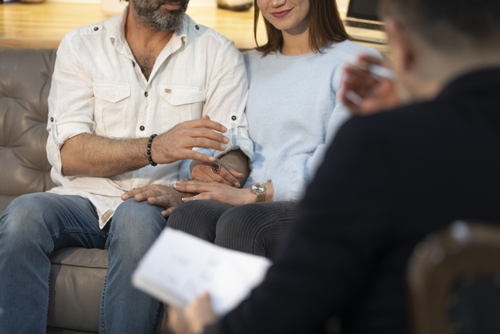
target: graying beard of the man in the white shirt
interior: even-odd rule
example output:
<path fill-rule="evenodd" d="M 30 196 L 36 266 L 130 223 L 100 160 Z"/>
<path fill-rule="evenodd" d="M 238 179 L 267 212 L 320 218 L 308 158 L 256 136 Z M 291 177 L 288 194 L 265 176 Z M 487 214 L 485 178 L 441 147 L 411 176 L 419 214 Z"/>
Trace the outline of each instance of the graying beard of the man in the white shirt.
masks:
<path fill-rule="evenodd" d="M 166 0 L 132 0 L 135 14 L 139 21 L 147 28 L 155 30 L 175 30 L 182 26 L 182 19 L 187 9 L 189 0 L 181 0 L 181 6 L 177 10 L 161 8 Z"/>

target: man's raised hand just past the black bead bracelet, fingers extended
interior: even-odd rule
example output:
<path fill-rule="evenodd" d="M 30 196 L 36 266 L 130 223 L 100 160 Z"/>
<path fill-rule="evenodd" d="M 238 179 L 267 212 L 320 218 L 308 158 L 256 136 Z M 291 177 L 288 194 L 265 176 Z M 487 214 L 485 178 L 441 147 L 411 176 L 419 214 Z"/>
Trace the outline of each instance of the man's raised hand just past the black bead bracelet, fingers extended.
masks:
<path fill-rule="evenodd" d="M 216 132 L 218 131 L 218 132 Z M 229 139 L 222 135 L 227 128 L 213 122 L 208 116 L 175 125 L 170 131 L 156 136 L 151 145 L 151 158 L 155 163 L 173 163 L 182 159 L 213 163 L 215 158 L 193 151 L 193 147 L 224 151 Z M 222 133 L 220 133 L 222 132 Z"/>

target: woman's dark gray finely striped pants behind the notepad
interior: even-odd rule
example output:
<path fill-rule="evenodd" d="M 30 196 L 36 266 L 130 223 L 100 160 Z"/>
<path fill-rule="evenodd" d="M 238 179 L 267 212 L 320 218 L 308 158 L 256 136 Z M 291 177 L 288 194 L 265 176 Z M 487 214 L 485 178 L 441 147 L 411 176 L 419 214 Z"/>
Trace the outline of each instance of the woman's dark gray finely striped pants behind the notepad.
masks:
<path fill-rule="evenodd" d="M 273 257 L 297 213 L 296 202 L 232 207 L 217 201 L 198 200 L 177 207 L 166 225 L 225 248 Z"/>

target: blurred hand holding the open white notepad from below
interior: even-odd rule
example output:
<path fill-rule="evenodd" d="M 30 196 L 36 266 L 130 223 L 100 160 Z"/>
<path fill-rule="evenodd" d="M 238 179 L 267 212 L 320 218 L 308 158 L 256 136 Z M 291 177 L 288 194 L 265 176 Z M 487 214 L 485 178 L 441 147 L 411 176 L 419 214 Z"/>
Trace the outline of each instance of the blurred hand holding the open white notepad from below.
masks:
<path fill-rule="evenodd" d="M 203 293 L 198 299 L 184 308 L 167 308 L 169 328 L 177 334 L 202 333 L 204 326 L 213 324 L 220 317 L 212 308 L 209 293 Z"/>

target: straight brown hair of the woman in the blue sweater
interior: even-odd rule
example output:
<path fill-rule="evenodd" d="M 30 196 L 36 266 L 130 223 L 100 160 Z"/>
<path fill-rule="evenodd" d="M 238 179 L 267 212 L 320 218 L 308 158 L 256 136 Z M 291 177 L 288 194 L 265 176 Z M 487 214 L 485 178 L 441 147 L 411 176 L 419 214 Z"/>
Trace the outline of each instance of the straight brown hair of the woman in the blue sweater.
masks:
<path fill-rule="evenodd" d="M 281 30 L 275 28 L 263 17 L 267 43 L 260 46 L 257 42 L 257 24 L 260 10 L 257 6 L 257 0 L 254 0 L 253 7 L 255 15 L 253 16 L 253 37 L 256 40 L 257 50 L 269 55 L 280 51 L 283 47 L 283 35 Z M 345 41 L 349 35 L 345 32 L 344 25 L 338 14 L 337 3 L 335 0 L 309 0 L 309 46 L 313 51 L 319 51 L 320 48 L 327 46 L 330 41 Z"/>

